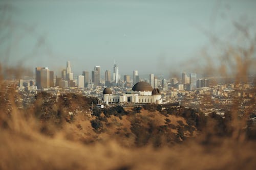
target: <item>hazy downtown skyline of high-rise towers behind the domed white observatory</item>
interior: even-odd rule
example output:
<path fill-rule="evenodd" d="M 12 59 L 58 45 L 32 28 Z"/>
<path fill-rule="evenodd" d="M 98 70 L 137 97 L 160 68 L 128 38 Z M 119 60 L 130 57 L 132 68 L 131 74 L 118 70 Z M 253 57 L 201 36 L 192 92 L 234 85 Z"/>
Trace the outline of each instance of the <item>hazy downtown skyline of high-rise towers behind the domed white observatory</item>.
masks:
<path fill-rule="evenodd" d="M 47 89 L 51 87 L 58 87 L 61 89 L 67 88 L 95 88 L 95 87 L 123 87 L 132 88 L 136 83 L 144 81 L 151 85 L 152 88 L 161 89 L 162 91 L 168 91 L 172 88 L 176 88 L 179 91 L 193 91 L 198 88 L 209 87 L 208 79 L 197 79 L 196 73 L 182 72 L 181 78 L 160 79 L 154 74 L 149 74 L 148 78 L 140 78 L 139 71 L 134 70 L 133 75 L 123 75 L 123 80 L 119 74 L 119 67 L 114 63 L 113 74 L 111 70 L 105 70 L 104 79 L 101 79 L 101 67 L 95 66 L 91 74 L 88 70 L 83 70 L 81 75 L 78 75 L 74 79 L 74 74 L 71 69 L 71 62 L 67 61 L 66 69 L 61 70 L 61 77 L 56 76 L 54 79 L 54 72 L 49 70 L 48 67 L 36 67 L 35 68 L 35 84 L 28 86 L 19 83 L 20 88 L 26 87 L 29 89 Z M 22 80 L 21 80 L 22 82 Z M 36 86 L 36 87 L 34 87 Z"/>

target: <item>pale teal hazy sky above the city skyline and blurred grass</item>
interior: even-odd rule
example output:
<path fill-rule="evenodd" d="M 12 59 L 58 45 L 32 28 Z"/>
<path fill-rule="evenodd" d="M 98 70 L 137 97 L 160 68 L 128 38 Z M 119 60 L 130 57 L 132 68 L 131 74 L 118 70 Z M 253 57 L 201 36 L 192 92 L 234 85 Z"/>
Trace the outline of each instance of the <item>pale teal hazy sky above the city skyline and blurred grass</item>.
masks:
<path fill-rule="evenodd" d="M 0 1 L 6 4 L 0 61 L 57 75 L 67 61 L 75 74 L 96 65 L 113 72 L 114 62 L 122 75 L 190 71 L 211 46 L 209 35 L 225 37 L 233 21 L 256 16 L 256 1 Z"/>

